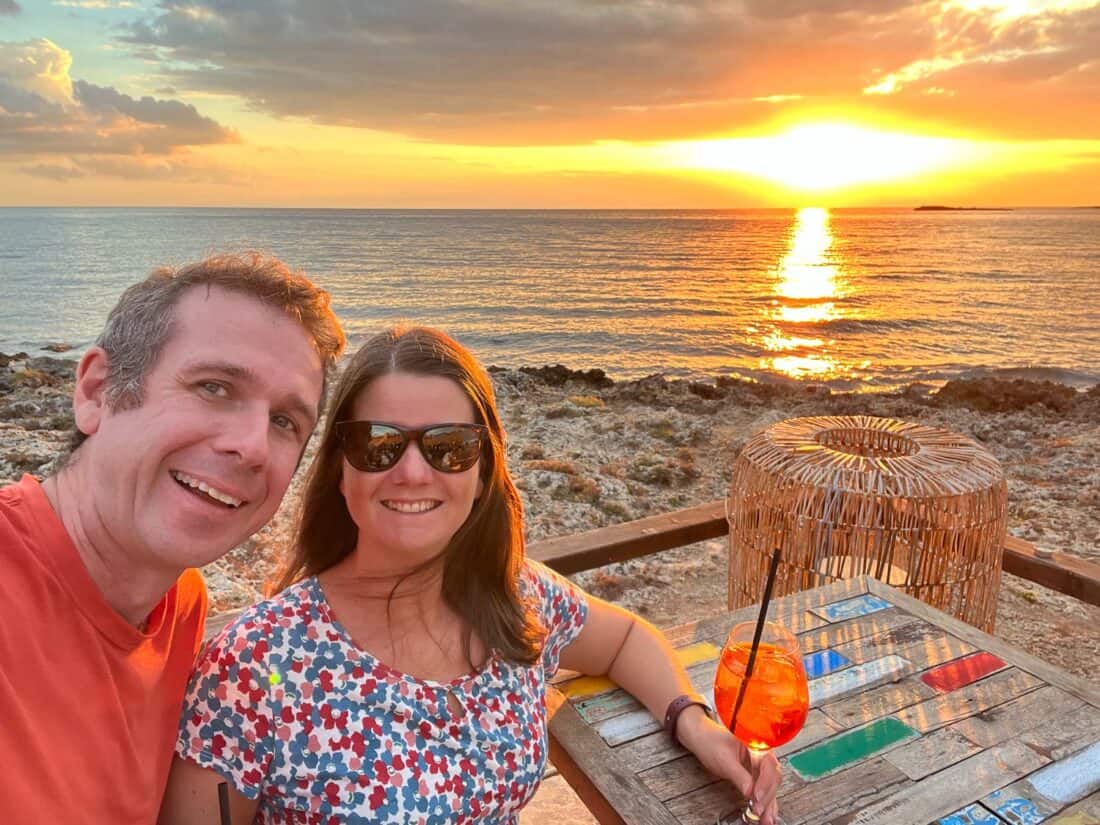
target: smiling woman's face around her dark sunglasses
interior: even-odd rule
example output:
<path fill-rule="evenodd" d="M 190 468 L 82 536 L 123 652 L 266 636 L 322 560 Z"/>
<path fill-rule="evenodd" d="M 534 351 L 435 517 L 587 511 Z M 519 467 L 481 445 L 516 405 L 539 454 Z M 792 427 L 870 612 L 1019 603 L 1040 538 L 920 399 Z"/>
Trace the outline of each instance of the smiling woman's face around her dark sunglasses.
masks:
<path fill-rule="evenodd" d="M 351 418 L 420 429 L 475 424 L 474 407 L 450 378 L 389 373 L 355 398 Z M 400 571 L 439 554 L 481 495 L 481 462 L 460 473 L 433 469 L 416 442 L 389 470 L 366 473 L 344 460 L 340 492 L 359 526 L 356 552 L 375 569 Z"/>

